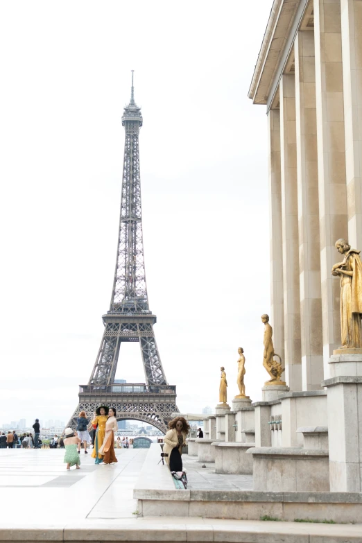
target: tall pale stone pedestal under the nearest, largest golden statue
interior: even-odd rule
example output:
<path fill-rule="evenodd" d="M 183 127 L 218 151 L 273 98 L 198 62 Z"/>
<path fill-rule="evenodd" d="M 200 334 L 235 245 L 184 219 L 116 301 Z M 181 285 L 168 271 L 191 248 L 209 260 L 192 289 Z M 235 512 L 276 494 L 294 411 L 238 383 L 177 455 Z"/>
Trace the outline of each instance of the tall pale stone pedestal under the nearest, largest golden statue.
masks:
<path fill-rule="evenodd" d="M 327 387 L 331 492 L 362 492 L 362 354 L 333 354 Z M 341 350 L 335 351 L 335 353 Z"/>

